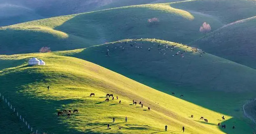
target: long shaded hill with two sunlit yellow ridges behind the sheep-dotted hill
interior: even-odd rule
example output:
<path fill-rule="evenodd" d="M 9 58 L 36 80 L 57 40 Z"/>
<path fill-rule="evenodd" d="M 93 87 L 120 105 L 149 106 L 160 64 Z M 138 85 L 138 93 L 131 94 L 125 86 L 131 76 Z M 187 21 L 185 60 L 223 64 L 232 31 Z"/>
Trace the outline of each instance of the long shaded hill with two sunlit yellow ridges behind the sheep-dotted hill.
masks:
<path fill-rule="evenodd" d="M 150 24 L 149 18 L 159 18 Z M 125 38 L 157 37 L 189 43 L 204 34 L 202 22 L 212 29 L 222 24 L 215 18 L 175 9 L 170 4 L 145 4 L 76 15 L 36 20 L 0 28 L 0 54 L 85 48 Z"/>

